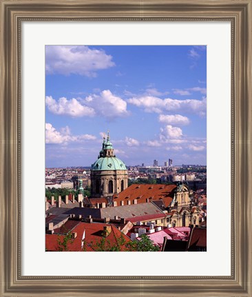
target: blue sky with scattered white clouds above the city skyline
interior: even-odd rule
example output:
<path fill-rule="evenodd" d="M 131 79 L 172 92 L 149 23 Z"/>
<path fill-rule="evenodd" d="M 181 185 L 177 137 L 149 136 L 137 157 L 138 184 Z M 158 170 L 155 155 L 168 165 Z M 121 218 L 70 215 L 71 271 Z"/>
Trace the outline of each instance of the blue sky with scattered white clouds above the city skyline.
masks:
<path fill-rule="evenodd" d="M 47 45 L 45 165 L 207 164 L 207 47 Z"/>

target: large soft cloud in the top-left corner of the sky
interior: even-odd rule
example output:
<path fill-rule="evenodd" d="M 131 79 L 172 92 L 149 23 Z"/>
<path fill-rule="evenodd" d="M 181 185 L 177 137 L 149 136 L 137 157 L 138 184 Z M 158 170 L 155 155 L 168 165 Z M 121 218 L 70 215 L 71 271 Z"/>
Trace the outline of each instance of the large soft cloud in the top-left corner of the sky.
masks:
<path fill-rule="evenodd" d="M 45 71 L 47 74 L 79 74 L 94 77 L 97 70 L 113 67 L 112 56 L 104 50 L 85 45 L 47 45 Z"/>

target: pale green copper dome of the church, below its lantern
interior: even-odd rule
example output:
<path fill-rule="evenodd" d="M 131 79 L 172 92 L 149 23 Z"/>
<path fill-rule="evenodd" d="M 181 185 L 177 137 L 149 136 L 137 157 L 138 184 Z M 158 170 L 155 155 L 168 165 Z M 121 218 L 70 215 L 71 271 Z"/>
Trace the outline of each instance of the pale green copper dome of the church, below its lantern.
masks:
<path fill-rule="evenodd" d="M 115 156 L 98 158 L 92 164 L 92 170 L 127 170 L 125 163 Z"/>

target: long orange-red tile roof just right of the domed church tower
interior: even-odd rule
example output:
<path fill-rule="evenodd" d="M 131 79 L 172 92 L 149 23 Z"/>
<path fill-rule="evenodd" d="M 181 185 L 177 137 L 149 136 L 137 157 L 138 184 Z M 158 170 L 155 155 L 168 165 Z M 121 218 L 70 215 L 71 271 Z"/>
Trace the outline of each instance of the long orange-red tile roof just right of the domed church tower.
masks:
<path fill-rule="evenodd" d="M 123 192 L 114 194 L 114 201 L 127 201 L 130 199 L 133 201 L 137 199 L 137 203 L 146 203 L 147 198 L 149 201 L 162 199 L 165 203 L 165 207 L 168 207 L 174 197 L 174 190 L 176 185 L 158 185 L 158 184 L 134 184 L 130 185 Z M 127 203 L 127 202 L 126 202 Z"/>

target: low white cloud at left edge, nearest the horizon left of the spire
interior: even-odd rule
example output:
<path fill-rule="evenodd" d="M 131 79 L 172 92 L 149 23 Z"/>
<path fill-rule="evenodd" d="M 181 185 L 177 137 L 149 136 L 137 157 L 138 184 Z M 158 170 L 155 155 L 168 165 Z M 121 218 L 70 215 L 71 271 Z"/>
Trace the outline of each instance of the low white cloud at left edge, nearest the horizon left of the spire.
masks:
<path fill-rule="evenodd" d="M 52 124 L 45 123 L 45 143 L 68 143 L 81 142 L 96 139 L 90 134 L 72 135 L 69 127 L 63 127 L 61 131 L 56 130 Z"/>

